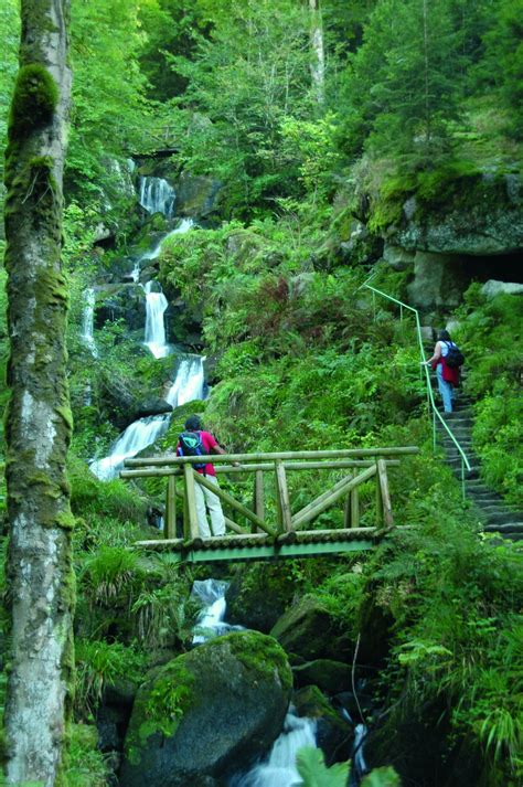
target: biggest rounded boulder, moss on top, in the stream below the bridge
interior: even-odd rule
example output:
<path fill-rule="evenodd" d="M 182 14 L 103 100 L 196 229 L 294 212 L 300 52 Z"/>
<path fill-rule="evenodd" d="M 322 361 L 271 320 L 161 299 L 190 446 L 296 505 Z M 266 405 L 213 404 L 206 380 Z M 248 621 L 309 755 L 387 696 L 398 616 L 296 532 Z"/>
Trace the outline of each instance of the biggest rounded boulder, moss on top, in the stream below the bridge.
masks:
<path fill-rule="evenodd" d="M 247 767 L 279 735 L 291 683 L 285 652 L 255 631 L 173 659 L 138 691 L 121 787 L 212 784 Z"/>

